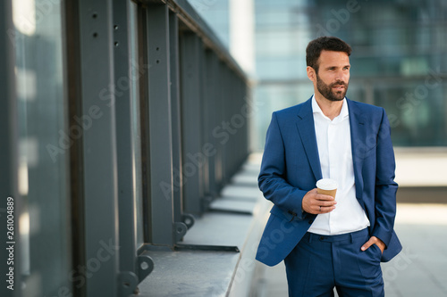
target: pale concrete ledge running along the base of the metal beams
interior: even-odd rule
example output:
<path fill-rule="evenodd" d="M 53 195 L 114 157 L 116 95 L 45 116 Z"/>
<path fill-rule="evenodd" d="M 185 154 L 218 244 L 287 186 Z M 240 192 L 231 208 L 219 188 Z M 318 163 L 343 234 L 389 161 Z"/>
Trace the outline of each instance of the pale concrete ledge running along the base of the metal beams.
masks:
<path fill-rule="evenodd" d="M 154 270 L 135 297 L 249 295 L 257 243 L 272 206 L 257 189 L 258 166 L 248 162 L 212 204 L 214 211 L 196 219 L 181 244 L 200 249 L 145 252 L 154 260 Z M 240 252 L 204 250 L 207 246 L 237 247 Z"/>

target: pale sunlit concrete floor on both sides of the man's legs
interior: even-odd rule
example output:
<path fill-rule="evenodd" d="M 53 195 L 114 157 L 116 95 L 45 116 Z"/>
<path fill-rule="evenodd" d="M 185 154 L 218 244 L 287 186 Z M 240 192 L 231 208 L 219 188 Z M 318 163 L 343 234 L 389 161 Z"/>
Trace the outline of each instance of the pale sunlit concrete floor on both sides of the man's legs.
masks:
<path fill-rule="evenodd" d="M 447 205 L 398 205 L 402 252 L 382 265 L 387 297 L 447 296 Z M 266 267 L 258 297 L 286 297 L 283 263 Z"/>

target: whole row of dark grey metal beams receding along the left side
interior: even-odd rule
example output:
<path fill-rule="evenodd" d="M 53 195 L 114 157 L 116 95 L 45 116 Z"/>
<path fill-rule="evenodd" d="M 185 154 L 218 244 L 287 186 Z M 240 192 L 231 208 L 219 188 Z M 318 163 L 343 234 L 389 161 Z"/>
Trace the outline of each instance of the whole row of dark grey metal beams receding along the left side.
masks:
<path fill-rule="evenodd" d="M 63 202 L 67 207 L 58 216 L 65 218 L 68 245 L 60 255 L 40 248 L 38 236 L 52 228 L 47 222 L 55 210 L 48 209 L 40 225 L 30 216 L 30 226 L 39 227 L 37 235 L 27 237 L 29 249 L 16 245 L 30 269 L 14 264 L 15 290 L 1 290 L 13 296 L 33 290 L 46 296 L 128 296 L 154 268 L 148 251 L 173 250 L 249 155 L 248 80 L 184 0 L 67 2 L 48 6 L 47 15 L 42 14 L 62 20 L 58 42 L 63 54 L 54 59 L 63 65 L 63 95 L 54 100 L 66 108 L 49 118 L 51 111 L 27 118 L 14 107 L 18 97 L 12 56 L 17 48 L 7 34 L 15 30 L 13 21 L 6 18 L 13 14 L 11 4 L 0 4 L 0 74 L 6 94 L 0 101 L 0 129 L 7 140 L 0 154 L 0 208 L 11 196 L 20 218 L 30 205 L 44 210 L 48 203 Z M 36 22 L 36 32 L 44 22 Z M 22 45 L 40 46 L 37 37 L 27 42 Z M 33 69 L 38 82 L 45 77 L 39 70 Z M 37 95 L 48 89 L 42 86 Z M 18 123 L 55 125 L 53 118 L 63 119 L 59 134 L 70 143 L 63 148 L 46 143 L 36 132 L 38 154 L 45 157 L 36 172 L 45 180 L 51 164 L 68 186 L 42 200 L 46 185 L 39 182 L 25 199 L 15 178 Z M 20 207 L 21 201 L 26 207 Z M 21 221 L 14 222 L 19 230 Z M 35 257 L 49 260 L 33 261 Z M 40 284 L 38 276 L 51 274 L 54 266 L 63 276 Z"/>

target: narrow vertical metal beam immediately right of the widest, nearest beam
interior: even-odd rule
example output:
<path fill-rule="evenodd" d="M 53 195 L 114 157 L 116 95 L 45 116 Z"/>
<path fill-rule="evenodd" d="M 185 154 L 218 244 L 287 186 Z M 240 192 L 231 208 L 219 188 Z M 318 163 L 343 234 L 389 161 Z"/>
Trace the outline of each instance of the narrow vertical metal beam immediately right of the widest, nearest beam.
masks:
<path fill-rule="evenodd" d="M 135 220 L 135 170 L 131 119 L 131 84 L 139 73 L 132 70 L 128 21 L 128 1 L 114 0 L 114 86 L 116 153 L 118 174 L 118 213 L 120 240 L 120 295 L 133 293 L 139 283 Z"/>

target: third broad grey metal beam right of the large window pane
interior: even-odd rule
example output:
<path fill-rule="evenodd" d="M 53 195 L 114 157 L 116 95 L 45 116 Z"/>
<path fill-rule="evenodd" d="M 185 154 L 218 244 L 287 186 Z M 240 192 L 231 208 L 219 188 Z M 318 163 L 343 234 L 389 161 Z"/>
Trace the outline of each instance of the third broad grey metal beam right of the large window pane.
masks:
<path fill-rule="evenodd" d="M 184 210 L 199 215 L 203 212 L 199 58 L 202 46 L 199 37 L 188 31 L 181 35 L 180 45 Z"/>

